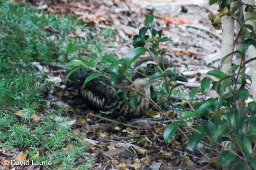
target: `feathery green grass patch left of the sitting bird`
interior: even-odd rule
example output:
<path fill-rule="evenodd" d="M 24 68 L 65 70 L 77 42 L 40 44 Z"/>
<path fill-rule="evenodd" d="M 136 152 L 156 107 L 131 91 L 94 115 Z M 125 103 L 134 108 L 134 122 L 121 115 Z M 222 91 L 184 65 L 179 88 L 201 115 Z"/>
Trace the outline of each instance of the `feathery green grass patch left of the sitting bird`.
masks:
<path fill-rule="evenodd" d="M 51 84 L 46 81 L 47 73 L 31 63 L 95 61 L 108 54 L 102 44 L 112 40 L 113 30 L 92 34 L 90 27 L 72 16 L 53 16 L 7 0 L 0 0 L 0 18 L 0 151 L 18 147 L 28 153 L 29 160 L 52 161 L 46 169 L 90 169 L 94 160 L 78 161 L 86 152 L 85 134 L 73 132 L 73 126 L 65 124 L 69 118 L 54 119 L 65 110 L 42 111 L 44 91 Z M 68 36 L 77 29 L 87 36 Z M 43 112 L 41 119 L 35 122 L 31 116 L 39 111 Z"/>

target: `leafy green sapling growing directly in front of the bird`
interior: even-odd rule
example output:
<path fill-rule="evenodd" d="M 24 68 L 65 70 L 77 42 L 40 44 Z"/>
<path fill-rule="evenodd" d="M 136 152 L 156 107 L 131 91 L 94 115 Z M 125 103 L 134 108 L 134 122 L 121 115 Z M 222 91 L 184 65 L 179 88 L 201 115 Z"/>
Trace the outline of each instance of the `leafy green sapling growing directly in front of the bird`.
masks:
<path fill-rule="evenodd" d="M 118 59 L 118 57 L 114 55 L 99 56 L 99 60 L 101 60 L 104 65 L 101 63 L 95 64 L 91 61 L 82 62 L 81 60 L 72 60 L 67 64 L 68 67 L 73 67 L 73 69 L 66 76 L 66 80 L 68 80 L 69 76 L 71 76 L 74 71 L 84 68 L 94 71 L 95 74 L 88 76 L 85 79 L 83 85 L 86 85 L 89 81 L 98 76 L 105 76 L 112 82 L 113 85 L 119 87 L 120 85 L 124 87 L 121 82 L 129 82 L 131 84 L 129 87 L 126 86 L 120 90 L 123 92 L 123 98 L 126 104 L 131 108 L 137 108 L 137 95 L 147 98 L 146 94 L 140 91 L 132 80 L 132 75 L 134 73 L 139 73 L 148 77 L 150 81 L 155 80 L 158 82 L 159 91 L 153 94 L 151 97 L 157 98 L 157 101 L 161 103 L 161 106 L 156 104 L 151 98 L 148 100 L 156 109 L 166 109 L 166 107 L 171 103 L 171 93 L 174 88 L 183 85 L 175 84 L 171 86 L 172 82 L 176 80 L 187 80 L 183 76 L 178 76 L 173 70 L 168 68 L 169 63 L 164 58 L 166 51 L 160 49 L 159 43 L 170 41 L 171 39 L 162 36 L 163 30 L 156 30 L 152 27 L 153 20 L 153 15 L 146 16 L 145 22 L 148 26 L 139 29 L 139 34 L 133 37 L 134 49 L 130 51 L 123 59 Z M 149 53 L 149 55 L 154 59 L 155 63 L 157 63 L 156 67 L 149 65 L 144 70 L 135 70 L 133 64 L 141 55 L 145 54 L 146 52 Z M 105 69 L 110 69 L 111 71 L 106 73 L 103 71 Z M 147 76 L 147 74 L 151 71 L 153 74 Z M 136 92 L 136 95 L 134 95 L 134 92 Z M 163 96 L 166 96 L 166 98 L 164 99 Z"/>

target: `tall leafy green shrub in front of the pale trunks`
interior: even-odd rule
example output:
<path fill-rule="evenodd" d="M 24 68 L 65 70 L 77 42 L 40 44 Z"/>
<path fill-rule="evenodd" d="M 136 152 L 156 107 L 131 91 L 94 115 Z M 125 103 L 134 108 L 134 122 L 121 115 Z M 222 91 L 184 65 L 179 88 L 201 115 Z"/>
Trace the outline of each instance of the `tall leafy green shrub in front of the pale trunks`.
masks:
<path fill-rule="evenodd" d="M 254 26 L 246 24 L 243 17 L 239 18 L 243 7 L 246 11 L 253 12 L 255 6 L 237 0 L 210 0 L 210 5 L 215 2 L 219 2 L 219 14 L 215 16 L 210 14 L 209 19 L 216 29 L 220 29 L 220 17 L 223 16 L 232 17 L 231 19 L 235 19 L 239 23 L 239 33 L 235 39 L 238 50 L 228 52 L 229 54 L 221 59 L 221 65 L 229 57 L 231 66 L 232 58 L 230 59 L 230 56 L 233 54 L 241 56 L 241 62 L 232 66 L 227 73 L 220 69 L 209 71 L 208 75 L 213 76 L 214 79 L 204 77 L 201 81 L 201 88 L 190 92 L 190 102 L 193 102 L 193 97 L 198 92 L 207 95 L 210 88 L 218 94 L 218 97 L 194 102 L 191 110 L 182 112 L 179 120 L 166 127 L 164 139 L 168 143 L 179 127 L 186 126 L 193 131 L 188 140 L 188 147 L 192 151 L 198 148 L 201 141 L 210 141 L 219 157 L 219 165 L 227 166 L 231 170 L 256 169 L 256 102 L 249 102 L 247 106 L 242 107 L 240 103 L 250 96 L 246 81 L 248 76 L 241 70 L 247 63 L 256 59 L 254 57 L 245 60 L 249 46 L 256 47 L 256 30 Z M 255 17 L 247 18 L 247 20 L 253 19 L 255 20 Z M 231 29 L 229 32 L 234 31 L 234 27 L 231 28 L 233 30 Z M 229 39 L 231 38 L 229 37 Z M 238 39 L 241 44 L 236 43 Z M 203 123 L 193 128 L 186 123 L 186 119 L 190 118 L 203 119 Z"/>

